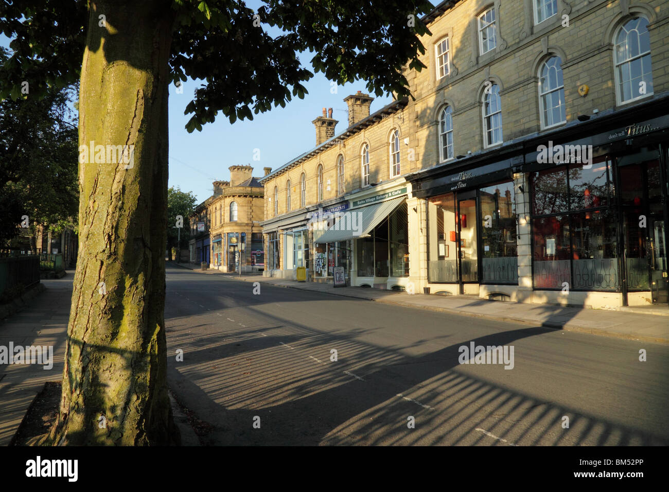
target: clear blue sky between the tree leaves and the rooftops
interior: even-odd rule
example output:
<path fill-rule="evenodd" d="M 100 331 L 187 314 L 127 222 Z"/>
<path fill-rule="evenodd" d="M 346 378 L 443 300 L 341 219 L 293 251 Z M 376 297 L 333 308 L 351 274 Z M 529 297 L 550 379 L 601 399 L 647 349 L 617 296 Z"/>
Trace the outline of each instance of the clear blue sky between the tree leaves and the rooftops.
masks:
<path fill-rule="evenodd" d="M 433 0 L 434 4 L 435 1 Z M 258 9 L 261 0 L 248 0 L 248 7 Z M 270 31 L 272 33 L 272 31 Z M 274 34 L 274 33 L 272 33 Z M 8 47 L 9 39 L 0 34 L 0 45 Z M 313 72 L 309 54 L 299 56 L 303 66 Z M 264 167 L 276 169 L 316 145 L 316 131 L 312 120 L 322 114 L 322 108 L 333 108 L 332 116 L 339 120 L 335 133 L 347 127 L 347 109 L 343 99 L 358 90 L 366 92 L 362 80 L 354 84 L 337 86 L 337 92 L 323 74 L 314 74 L 304 84 L 308 94 L 304 99 L 294 98 L 285 108 L 255 114 L 253 120 L 237 120 L 230 125 L 223 113 L 202 131 L 188 133 L 186 122 L 191 115 L 183 114 L 200 81 L 188 80 L 183 84 L 183 94 L 171 86 L 169 95 L 169 185 L 182 191 L 193 191 L 198 202 L 212 194 L 211 181 L 227 180 L 231 165 L 250 164 L 254 176 L 263 175 Z M 391 96 L 373 100 L 371 112 L 391 102 Z M 260 160 L 254 161 L 254 149 L 260 149 Z"/>

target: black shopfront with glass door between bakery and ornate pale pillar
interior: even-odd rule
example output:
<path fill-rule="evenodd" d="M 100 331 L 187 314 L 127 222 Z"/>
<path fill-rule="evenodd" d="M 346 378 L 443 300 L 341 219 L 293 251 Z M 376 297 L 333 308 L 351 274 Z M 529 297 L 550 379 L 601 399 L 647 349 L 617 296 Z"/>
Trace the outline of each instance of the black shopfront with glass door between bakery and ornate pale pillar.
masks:
<path fill-rule="evenodd" d="M 415 195 L 425 200 L 429 292 L 509 296 L 517 288 L 516 162 L 507 158 L 421 181 Z"/>

